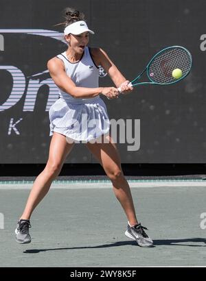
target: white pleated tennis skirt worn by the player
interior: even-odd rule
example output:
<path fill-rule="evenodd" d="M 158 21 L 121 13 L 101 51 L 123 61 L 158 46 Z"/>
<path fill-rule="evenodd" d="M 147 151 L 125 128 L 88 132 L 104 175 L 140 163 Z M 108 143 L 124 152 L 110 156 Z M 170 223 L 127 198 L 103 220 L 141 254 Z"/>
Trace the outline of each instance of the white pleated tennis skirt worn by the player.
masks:
<path fill-rule="evenodd" d="M 50 136 L 58 132 L 78 142 L 108 134 L 110 121 L 100 97 L 66 101 L 62 97 L 49 109 Z"/>

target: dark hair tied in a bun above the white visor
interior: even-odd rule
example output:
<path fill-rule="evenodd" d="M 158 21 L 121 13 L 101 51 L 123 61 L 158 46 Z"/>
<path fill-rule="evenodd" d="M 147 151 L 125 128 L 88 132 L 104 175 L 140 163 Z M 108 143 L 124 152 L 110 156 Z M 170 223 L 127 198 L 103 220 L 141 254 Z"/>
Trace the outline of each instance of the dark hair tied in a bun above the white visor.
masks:
<path fill-rule="evenodd" d="M 72 23 L 76 23 L 76 21 L 84 21 L 84 14 L 75 8 L 65 8 L 63 14 L 66 21 L 64 23 L 58 23 L 57 25 L 65 25 L 65 27 L 67 27 Z"/>

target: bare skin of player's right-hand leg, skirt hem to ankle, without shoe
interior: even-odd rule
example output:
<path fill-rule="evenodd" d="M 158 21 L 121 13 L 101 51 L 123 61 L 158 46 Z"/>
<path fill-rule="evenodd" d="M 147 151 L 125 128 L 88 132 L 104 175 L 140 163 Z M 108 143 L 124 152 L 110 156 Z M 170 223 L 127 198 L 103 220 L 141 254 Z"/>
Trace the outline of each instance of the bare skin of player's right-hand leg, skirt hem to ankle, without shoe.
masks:
<path fill-rule="evenodd" d="M 131 225 L 137 224 L 133 197 L 128 182 L 122 172 L 119 153 L 111 136 L 106 136 L 108 143 L 87 143 L 88 149 L 98 159 L 108 178 L 113 184 L 113 191 L 124 208 Z"/>

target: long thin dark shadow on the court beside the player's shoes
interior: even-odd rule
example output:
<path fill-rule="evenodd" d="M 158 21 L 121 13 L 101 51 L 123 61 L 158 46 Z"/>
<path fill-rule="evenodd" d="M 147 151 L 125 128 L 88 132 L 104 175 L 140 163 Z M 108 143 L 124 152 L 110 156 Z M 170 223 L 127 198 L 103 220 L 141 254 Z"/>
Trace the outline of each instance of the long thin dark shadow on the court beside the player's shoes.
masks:
<path fill-rule="evenodd" d="M 176 246 L 187 246 L 187 247 L 206 247 L 206 239 L 203 238 L 191 238 L 191 239 L 164 239 L 164 240 L 153 240 L 154 246 L 159 245 L 176 245 Z M 191 244 L 194 243 L 194 244 Z M 205 245 L 196 245 L 196 243 L 205 243 Z M 64 247 L 64 248 L 50 248 L 50 249 L 26 249 L 25 254 L 36 254 L 39 252 L 47 252 L 47 251 L 59 251 L 59 250 L 67 250 L 67 249 L 100 249 L 107 247 L 119 247 L 125 245 L 133 245 L 137 246 L 136 241 L 118 241 L 115 243 L 97 245 L 97 246 L 84 246 L 84 247 Z"/>

